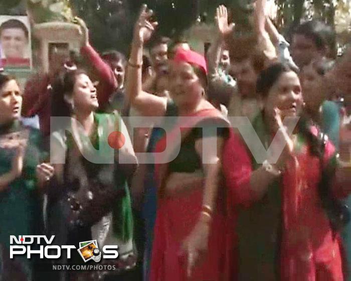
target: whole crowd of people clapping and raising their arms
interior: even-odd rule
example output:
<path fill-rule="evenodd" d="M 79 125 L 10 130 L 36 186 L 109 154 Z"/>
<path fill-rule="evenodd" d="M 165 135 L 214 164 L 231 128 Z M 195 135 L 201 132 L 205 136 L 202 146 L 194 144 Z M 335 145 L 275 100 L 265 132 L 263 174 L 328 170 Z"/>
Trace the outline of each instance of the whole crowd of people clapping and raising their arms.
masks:
<path fill-rule="evenodd" d="M 215 22 L 202 55 L 144 5 L 127 59 L 77 18 L 80 54 L 24 91 L 0 73 L 0 280 L 350 280 L 351 48 L 317 20 L 288 43 L 265 0 L 250 35 Z M 54 271 L 84 261 L 10 259 L 10 235 L 119 255 Z"/>

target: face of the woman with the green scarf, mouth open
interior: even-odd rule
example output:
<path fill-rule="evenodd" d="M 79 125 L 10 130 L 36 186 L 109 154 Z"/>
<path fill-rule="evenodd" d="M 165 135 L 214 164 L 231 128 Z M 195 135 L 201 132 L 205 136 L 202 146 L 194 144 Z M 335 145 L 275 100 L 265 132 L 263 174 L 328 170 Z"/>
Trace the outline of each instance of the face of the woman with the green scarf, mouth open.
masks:
<path fill-rule="evenodd" d="M 76 111 L 94 111 L 99 107 L 96 88 L 86 74 L 79 74 L 76 77 L 73 102 Z"/>

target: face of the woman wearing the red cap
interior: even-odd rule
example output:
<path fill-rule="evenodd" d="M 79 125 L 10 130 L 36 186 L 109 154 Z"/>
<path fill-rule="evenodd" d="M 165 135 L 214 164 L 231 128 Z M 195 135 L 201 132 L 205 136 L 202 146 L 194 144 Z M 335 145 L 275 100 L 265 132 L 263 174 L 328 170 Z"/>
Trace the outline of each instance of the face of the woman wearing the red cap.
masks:
<path fill-rule="evenodd" d="M 204 93 L 204 87 L 194 68 L 186 62 L 172 62 L 169 90 L 170 97 L 180 107 L 197 104 Z"/>

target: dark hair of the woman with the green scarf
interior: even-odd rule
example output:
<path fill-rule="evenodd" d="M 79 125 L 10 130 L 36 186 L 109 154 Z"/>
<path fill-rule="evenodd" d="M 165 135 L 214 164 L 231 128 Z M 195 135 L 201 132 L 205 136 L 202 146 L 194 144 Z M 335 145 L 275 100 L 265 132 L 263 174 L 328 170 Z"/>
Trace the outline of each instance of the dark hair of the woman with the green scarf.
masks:
<path fill-rule="evenodd" d="M 65 100 L 65 95 L 72 95 L 76 78 L 80 74 L 86 74 L 86 71 L 77 69 L 73 71 L 62 71 L 58 74 L 56 80 L 52 84 L 52 116 L 68 117 L 72 115 L 72 107 Z"/>

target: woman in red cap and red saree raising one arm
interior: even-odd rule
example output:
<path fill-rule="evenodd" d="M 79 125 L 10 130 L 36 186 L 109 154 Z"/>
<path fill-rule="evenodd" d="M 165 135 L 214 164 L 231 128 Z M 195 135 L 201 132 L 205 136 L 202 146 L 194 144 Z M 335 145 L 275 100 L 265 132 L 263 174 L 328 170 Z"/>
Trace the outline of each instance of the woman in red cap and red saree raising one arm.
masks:
<path fill-rule="evenodd" d="M 205 99 L 206 61 L 194 51 L 180 50 L 171 62 L 171 102 L 142 91 L 143 43 L 157 25 L 148 21 L 151 15 L 143 6 L 135 25 L 127 96 L 144 116 L 178 117 L 161 118 L 171 129 L 154 149 L 158 197 L 150 280 L 232 280 L 227 268 L 233 264 L 226 262 L 229 233 L 220 181 L 229 124 Z"/>

